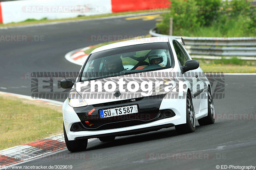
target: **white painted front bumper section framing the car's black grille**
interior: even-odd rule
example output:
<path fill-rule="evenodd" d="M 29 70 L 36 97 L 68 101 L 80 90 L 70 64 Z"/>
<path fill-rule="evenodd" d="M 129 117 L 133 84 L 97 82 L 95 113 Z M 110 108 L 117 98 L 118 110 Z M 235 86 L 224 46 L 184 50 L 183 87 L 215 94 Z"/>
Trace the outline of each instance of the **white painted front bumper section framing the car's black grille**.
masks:
<path fill-rule="evenodd" d="M 165 127 L 171 127 L 186 123 L 186 99 L 166 99 L 164 98 L 160 104 L 159 110 L 171 109 L 175 116 L 152 122 L 146 122 L 139 125 L 102 130 L 86 130 L 86 131 L 70 131 L 72 124 L 81 122 L 74 108 L 67 104 L 67 100 L 63 103 L 63 122 L 68 136 L 68 140 L 76 140 L 80 138 L 95 138 L 104 136 L 126 136 L 129 134 L 138 134 L 148 131 L 154 131 Z M 145 129 L 146 128 L 146 129 Z"/>

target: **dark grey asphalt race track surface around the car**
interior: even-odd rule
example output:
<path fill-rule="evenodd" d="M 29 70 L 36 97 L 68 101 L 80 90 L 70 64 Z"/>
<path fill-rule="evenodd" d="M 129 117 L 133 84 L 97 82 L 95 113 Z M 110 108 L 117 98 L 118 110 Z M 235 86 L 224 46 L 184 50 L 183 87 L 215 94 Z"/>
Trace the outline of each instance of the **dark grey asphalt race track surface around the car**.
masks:
<path fill-rule="evenodd" d="M 21 78 L 27 72 L 79 71 L 80 66 L 69 63 L 64 55 L 76 48 L 99 43 L 88 41 L 88 35 L 145 35 L 155 24 L 155 20 L 116 18 L 0 30 L 0 35 L 44 35 L 44 41 L 39 42 L 0 42 L 0 91 L 31 95 L 30 80 Z M 85 152 L 71 153 L 64 149 L 19 166 L 72 165 L 72 169 L 256 166 L 255 87 L 255 75 L 225 76 L 225 98 L 214 100 L 216 115 L 221 116 L 212 125 L 197 124 L 194 133 L 178 135 L 174 128 L 168 128 L 116 137 L 112 142 L 93 139 Z M 251 114 L 254 119 L 227 120 L 223 118 L 225 114 Z M 181 156 L 169 157 L 175 153 Z M 158 157 L 160 154 L 162 157 Z M 199 158 L 199 155 L 204 157 Z"/>

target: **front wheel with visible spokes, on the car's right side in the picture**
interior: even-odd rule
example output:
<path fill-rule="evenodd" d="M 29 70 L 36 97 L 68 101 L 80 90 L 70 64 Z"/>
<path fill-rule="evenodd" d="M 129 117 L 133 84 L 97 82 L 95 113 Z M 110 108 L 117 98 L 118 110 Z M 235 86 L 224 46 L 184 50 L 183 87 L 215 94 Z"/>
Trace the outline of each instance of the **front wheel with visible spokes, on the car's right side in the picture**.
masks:
<path fill-rule="evenodd" d="M 195 116 L 195 111 L 192 104 L 191 96 L 189 93 L 187 94 L 187 98 L 186 98 L 186 111 L 187 111 L 187 114 L 186 114 L 187 122 L 185 124 L 175 126 L 175 129 L 180 134 L 190 133 L 196 130 L 196 116 Z"/>

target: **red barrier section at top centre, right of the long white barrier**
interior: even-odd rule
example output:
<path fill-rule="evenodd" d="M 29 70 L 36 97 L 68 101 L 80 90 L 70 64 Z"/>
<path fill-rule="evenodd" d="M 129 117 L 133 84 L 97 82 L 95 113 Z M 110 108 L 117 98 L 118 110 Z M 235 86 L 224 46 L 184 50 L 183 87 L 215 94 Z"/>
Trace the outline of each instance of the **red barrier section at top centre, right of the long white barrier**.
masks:
<path fill-rule="evenodd" d="M 111 0 L 112 12 L 168 8 L 169 0 Z"/>

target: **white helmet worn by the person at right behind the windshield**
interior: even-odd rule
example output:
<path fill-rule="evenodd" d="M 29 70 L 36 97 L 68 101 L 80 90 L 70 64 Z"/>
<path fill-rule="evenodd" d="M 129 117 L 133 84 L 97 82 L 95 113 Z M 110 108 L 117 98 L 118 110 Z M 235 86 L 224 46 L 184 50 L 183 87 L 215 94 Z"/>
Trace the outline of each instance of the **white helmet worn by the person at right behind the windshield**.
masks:
<path fill-rule="evenodd" d="M 167 65 L 167 55 L 163 49 L 152 49 L 148 53 L 148 60 L 149 64 L 151 64 L 152 59 L 160 59 L 160 62 L 158 64 L 162 64 L 164 66 Z"/>

